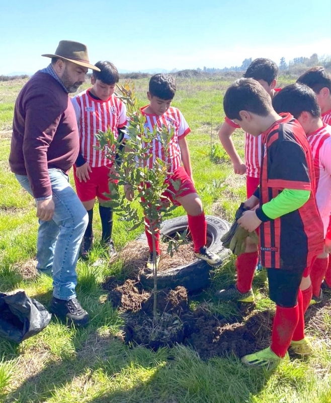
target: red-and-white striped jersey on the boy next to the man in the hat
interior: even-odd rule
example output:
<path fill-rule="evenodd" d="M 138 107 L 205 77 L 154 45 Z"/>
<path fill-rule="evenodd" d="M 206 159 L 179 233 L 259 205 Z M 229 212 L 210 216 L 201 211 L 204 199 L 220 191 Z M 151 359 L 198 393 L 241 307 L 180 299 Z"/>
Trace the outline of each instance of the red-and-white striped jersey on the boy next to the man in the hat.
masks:
<path fill-rule="evenodd" d="M 91 167 L 110 165 L 112 160 L 106 157 L 110 149 L 96 150 L 100 144 L 95 136 L 98 130 L 112 130 L 118 137 L 118 128 L 127 123 L 124 103 L 112 95 L 107 101 L 95 99 L 90 89 L 81 92 L 71 99 L 76 113 L 79 129 L 80 154 Z"/>

